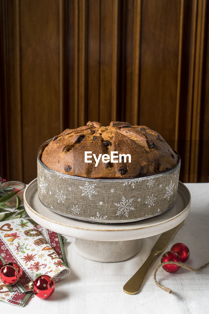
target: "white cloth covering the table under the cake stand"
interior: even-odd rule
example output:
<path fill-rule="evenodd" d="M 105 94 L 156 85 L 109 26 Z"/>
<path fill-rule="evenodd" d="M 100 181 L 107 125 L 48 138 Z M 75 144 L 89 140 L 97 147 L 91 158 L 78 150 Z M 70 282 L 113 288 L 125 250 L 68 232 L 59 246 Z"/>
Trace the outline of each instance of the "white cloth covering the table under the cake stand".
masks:
<path fill-rule="evenodd" d="M 191 192 L 191 211 L 184 225 L 174 236 L 167 251 L 176 242 L 190 249 L 186 262 L 193 268 L 209 262 L 209 183 L 185 184 Z M 0 301 L 1 313 L 207 313 L 209 308 L 209 267 L 192 273 L 180 268 L 166 273 L 162 268 L 157 280 L 173 291 L 169 294 L 156 286 L 153 273 L 160 257 L 150 268 L 140 292 L 127 295 L 123 285 L 148 257 L 159 236 L 142 239 L 140 252 L 120 263 L 97 263 L 81 257 L 74 248 L 74 239 L 65 244 L 71 273 L 56 283 L 54 294 L 46 300 L 30 299 L 23 308 Z"/>

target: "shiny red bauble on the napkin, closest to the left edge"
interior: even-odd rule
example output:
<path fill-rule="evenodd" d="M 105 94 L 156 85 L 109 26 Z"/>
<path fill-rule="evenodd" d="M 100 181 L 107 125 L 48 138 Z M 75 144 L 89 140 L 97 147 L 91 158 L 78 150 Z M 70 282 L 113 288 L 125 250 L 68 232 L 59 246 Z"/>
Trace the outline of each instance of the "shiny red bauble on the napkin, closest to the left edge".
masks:
<path fill-rule="evenodd" d="M 17 263 L 7 263 L 0 269 L 0 278 L 3 284 L 16 284 L 21 276 L 22 268 Z"/>

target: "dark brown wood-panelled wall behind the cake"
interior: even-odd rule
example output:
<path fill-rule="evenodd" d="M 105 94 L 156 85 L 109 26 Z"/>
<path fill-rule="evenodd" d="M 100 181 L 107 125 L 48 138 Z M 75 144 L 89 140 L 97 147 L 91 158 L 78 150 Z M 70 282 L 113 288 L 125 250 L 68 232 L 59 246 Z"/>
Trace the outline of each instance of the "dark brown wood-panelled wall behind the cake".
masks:
<path fill-rule="evenodd" d="M 1 175 L 29 183 L 41 143 L 87 121 L 147 125 L 209 181 L 206 0 L 2 0 Z"/>

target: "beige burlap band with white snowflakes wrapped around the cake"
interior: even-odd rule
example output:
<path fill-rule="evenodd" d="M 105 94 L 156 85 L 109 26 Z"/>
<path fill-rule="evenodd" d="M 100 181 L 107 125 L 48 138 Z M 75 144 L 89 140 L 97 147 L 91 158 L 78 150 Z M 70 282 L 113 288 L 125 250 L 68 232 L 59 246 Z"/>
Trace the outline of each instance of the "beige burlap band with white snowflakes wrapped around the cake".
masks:
<path fill-rule="evenodd" d="M 39 199 L 60 215 L 94 223 L 125 223 L 162 214 L 175 202 L 180 161 L 172 170 L 153 176 L 93 179 L 53 171 L 39 155 Z"/>

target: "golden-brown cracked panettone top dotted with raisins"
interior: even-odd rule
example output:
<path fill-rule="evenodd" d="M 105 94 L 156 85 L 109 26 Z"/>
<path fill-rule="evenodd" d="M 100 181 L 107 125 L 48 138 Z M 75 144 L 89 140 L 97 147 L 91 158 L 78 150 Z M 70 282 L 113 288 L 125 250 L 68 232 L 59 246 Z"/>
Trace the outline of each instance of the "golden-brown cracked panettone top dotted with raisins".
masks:
<path fill-rule="evenodd" d="M 85 163 L 85 151 L 92 152 L 92 163 Z M 131 162 L 102 162 L 95 167 L 93 154 L 130 154 Z M 90 160 L 90 159 L 89 159 Z M 109 126 L 87 122 L 77 129 L 66 129 L 56 135 L 44 149 L 41 161 L 48 168 L 90 178 L 133 178 L 151 176 L 174 168 L 179 155 L 159 133 L 146 126 L 132 126 L 127 122 L 112 121 Z"/>

